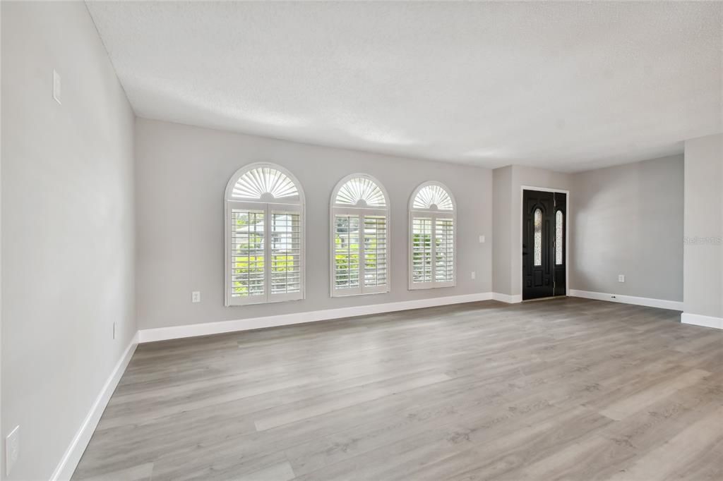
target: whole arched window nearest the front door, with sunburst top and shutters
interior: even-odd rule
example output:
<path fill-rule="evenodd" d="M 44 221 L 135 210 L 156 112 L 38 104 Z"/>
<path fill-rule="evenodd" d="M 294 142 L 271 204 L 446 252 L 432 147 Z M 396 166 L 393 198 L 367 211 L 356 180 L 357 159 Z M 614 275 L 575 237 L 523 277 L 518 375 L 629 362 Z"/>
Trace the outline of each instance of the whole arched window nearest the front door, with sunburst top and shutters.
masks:
<path fill-rule="evenodd" d="M 448 188 L 425 182 L 409 201 L 409 289 L 456 282 L 456 204 Z"/>

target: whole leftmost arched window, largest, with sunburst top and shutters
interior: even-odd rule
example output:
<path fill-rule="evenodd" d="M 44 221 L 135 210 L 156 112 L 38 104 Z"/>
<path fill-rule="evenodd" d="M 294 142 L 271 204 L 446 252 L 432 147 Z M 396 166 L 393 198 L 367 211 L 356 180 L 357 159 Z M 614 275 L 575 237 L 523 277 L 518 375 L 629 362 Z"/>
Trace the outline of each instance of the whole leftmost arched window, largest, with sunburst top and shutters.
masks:
<path fill-rule="evenodd" d="M 304 298 L 304 191 L 288 170 L 257 163 L 226 186 L 226 306 Z"/>

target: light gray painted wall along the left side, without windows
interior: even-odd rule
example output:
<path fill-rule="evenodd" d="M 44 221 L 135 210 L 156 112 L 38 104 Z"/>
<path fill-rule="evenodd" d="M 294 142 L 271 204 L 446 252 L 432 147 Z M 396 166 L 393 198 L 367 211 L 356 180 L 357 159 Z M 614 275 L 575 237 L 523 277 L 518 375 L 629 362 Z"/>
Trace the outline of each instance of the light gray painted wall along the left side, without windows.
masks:
<path fill-rule="evenodd" d="M 47 480 L 136 330 L 134 116 L 85 4 L 1 12 L 2 438 Z"/>

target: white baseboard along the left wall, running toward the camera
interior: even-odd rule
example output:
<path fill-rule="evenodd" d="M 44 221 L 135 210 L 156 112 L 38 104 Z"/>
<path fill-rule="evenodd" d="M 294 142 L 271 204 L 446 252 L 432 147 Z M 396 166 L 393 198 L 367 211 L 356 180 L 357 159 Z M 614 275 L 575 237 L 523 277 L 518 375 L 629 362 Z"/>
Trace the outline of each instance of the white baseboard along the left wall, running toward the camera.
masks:
<path fill-rule="evenodd" d="M 103 415 L 103 411 L 106 410 L 108 401 L 110 401 L 113 391 L 115 391 L 116 386 L 118 386 L 118 381 L 121 380 L 121 376 L 123 376 L 123 373 L 126 371 L 126 367 L 137 345 L 138 333 L 131 339 L 130 344 L 125 352 L 123 352 L 113 372 L 111 372 L 111 376 L 108 377 L 106 384 L 103 385 L 103 389 L 100 389 L 100 393 L 98 397 L 95 398 L 93 406 L 90 407 L 90 411 L 87 416 L 85 416 L 82 425 L 80 425 L 80 429 L 75 433 L 73 441 L 71 441 L 70 446 L 66 449 L 65 454 L 53 472 L 50 478 L 51 481 L 65 481 L 72 477 L 78 462 L 80 462 L 80 457 L 83 455 L 83 452 L 85 452 L 90 438 L 93 437 L 93 432 L 95 431 L 95 427 L 98 426 L 100 416 Z"/>

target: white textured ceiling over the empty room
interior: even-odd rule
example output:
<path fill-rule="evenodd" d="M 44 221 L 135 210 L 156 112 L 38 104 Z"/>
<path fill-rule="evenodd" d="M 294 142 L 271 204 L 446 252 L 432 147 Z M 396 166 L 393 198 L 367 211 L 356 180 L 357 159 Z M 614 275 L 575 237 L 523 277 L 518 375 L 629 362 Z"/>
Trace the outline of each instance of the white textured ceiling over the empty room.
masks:
<path fill-rule="evenodd" d="M 145 118 L 564 171 L 723 130 L 723 3 L 87 4 Z"/>

